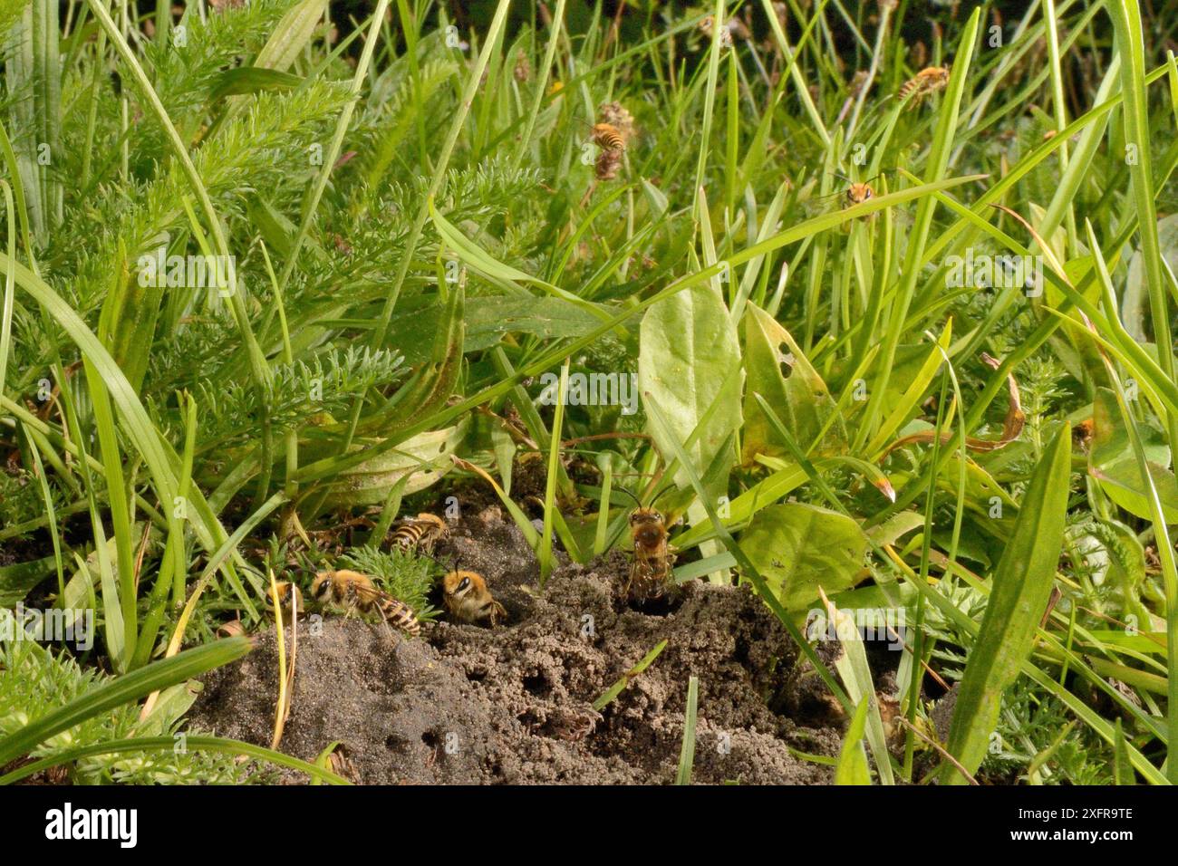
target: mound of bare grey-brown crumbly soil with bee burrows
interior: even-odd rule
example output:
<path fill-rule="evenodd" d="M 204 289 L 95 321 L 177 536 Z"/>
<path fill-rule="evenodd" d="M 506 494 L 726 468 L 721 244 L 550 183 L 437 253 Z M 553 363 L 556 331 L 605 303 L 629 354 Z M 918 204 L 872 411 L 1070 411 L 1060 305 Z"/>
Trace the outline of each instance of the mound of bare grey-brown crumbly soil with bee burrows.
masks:
<path fill-rule="evenodd" d="M 693 781 L 830 781 L 789 747 L 834 755 L 843 720 L 748 589 L 690 582 L 660 609 L 635 610 L 617 594 L 628 560 L 613 553 L 562 561 L 541 594 L 536 560 L 497 507 L 457 522 L 438 553 L 481 571 L 508 622 L 438 622 L 409 639 L 356 619 L 304 620 L 284 752 L 315 760 L 342 741 L 364 784 L 667 784 L 695 675 Z M 257 637 L 249 656 L 206 677 L 191 718 L 269 746 L 277 650 L 272 629 Z M 290 639 L 287 628 L 287 650 Z M 654 663 L 596 713 L 593 702 L 662 640 Z"/>

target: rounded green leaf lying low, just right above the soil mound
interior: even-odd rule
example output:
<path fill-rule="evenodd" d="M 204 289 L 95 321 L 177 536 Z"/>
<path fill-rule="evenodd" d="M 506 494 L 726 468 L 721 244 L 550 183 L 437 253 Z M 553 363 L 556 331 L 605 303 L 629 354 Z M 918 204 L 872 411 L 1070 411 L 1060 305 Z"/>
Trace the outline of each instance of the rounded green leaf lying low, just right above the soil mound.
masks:
<path fill-rule="evenodd" d="M 867 536 L 851 517 L 788 502 L 760 510 L 740 537 L 741 550 L 787 612 L 855 586 L 866 573 Z"/>

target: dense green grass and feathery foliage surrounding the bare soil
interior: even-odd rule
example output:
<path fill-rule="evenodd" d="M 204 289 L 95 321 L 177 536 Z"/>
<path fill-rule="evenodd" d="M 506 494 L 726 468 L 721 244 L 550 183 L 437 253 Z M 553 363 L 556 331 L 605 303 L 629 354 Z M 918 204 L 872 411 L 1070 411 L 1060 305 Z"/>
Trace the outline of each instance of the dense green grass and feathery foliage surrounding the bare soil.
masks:
<path fill-rule="evenodd" d="M 262 626 L 292 554 L 338 544 L 436 615 L 437 569 L 380 541 L 487 477 L 541 587 L 558 550 L 626 547 L 629 491 L 684 518 L 681 580 L 747 586 L 812 661 L 821 593 L 902 613 L 901 760 L 862 647 L 820 667 L 862 725 L 840 778 L 964 781 L 913 733 L 931 669 L 979 779 L 1178 780 L 1173 22 L 482 6 L 0 12 L 0 601 L 92 609 L 133 685 Z M 947 86 L 895 99 L 921 65 Z M 635 131 L 598 181 L 609 103 Z M 845 209 L 842 178 L 875 194 Z M 145 284 L 160 250 L 231 258 L 236 291 Z M 1034 257 L 1041 291 L 964 283 L 967 256 Z M 631 376 L 633 414 L 571 398 Z M 509 498 L 525 451 L 542 529 Z M 52 756 L 26 721 L 9 742 Z"/>

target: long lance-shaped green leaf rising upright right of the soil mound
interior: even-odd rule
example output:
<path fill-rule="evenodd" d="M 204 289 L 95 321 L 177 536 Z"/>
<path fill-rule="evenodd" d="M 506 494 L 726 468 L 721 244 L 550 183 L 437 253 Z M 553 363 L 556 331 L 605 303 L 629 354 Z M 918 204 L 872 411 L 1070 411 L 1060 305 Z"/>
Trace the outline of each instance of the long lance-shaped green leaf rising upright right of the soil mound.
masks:
<path fill-rule="evenodd" d="M 1064 424 L 1035 468 L 1014 531 L 994 570 L 986 614 L 969 650 L 949 727 L 948 751 L 969 773 L 978 771 L 986 755 L 1002 692 L 1027 661 L 1047 607 L 1064 546 L 1071 458 L 1071 425 Z M 945 765 L 941 781 L 960 785 L 966 780 Z"/>

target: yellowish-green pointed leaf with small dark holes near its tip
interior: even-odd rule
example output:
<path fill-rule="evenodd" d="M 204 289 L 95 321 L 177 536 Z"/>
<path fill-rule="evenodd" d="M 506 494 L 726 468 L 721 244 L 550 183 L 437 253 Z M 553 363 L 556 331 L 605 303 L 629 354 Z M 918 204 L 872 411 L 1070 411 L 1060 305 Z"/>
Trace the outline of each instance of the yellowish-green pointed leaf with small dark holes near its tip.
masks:
<path fill-rule="evenodd" d="M 802 353 L 802 350 L 765 310 L 748 304 L 744 313 L 744 441 L 741 461 L 746 465 L 756 455 L 788 454 L 756 404 L 754 394 L 763 396 L 776 409 L 781 421 L 803 448 L 809 448 L 822 432 L 835 411 L 830 392 Z M 846 450 L 847 435 L 842 421 L 836 419 L 810 451 L 814 457 L 840 454 Z"/>

